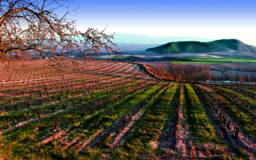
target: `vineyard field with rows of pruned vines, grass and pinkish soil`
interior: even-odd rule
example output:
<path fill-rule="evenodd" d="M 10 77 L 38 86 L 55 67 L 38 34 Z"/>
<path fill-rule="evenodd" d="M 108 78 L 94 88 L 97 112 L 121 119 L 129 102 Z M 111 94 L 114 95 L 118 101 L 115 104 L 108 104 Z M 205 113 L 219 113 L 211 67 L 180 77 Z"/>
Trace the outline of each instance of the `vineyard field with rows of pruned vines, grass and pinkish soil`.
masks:
<path fill-rule="evenodd" d="M 256 86 L 158 80 L 137 64 L 0 64 L 0 159 L 255 159 Z"/>

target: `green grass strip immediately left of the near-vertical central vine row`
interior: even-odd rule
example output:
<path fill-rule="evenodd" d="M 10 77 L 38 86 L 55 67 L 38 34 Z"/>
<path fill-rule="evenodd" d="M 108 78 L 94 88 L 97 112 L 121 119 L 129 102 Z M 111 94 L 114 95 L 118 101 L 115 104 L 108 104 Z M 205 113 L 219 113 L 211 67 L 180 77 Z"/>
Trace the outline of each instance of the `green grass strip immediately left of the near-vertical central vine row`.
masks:
<path fill-rule="evenodd" d="M 129 159 L 137 158 L 140 153 L 154 155 L 150 143 L 157 141 L 168 121 L 168 113 L 172 110 L 170 102 L 177 86 L 178 84 L 168 86 L 143 108 L 140 120 L 135 122 L 131 133 L 125 137 L 123 150 L 129 151 Z"/>

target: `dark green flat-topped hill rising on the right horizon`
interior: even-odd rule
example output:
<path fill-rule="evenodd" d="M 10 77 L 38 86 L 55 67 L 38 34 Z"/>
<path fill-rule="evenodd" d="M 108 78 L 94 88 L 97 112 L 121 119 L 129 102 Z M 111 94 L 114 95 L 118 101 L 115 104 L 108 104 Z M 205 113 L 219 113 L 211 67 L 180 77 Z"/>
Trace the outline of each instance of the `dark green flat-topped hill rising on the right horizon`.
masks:
<path fill-rule="evenodd" d="M 179 54 L 179 53 L 207 53 L 207 52 L 228 52 L 237 51 L 256 54 L 256 48 L 249 46 L 237 39 L 220 39 L 212 42 L 169 42 L 155 48 L 148 48 L 146 51 L 158 54 Z"/>

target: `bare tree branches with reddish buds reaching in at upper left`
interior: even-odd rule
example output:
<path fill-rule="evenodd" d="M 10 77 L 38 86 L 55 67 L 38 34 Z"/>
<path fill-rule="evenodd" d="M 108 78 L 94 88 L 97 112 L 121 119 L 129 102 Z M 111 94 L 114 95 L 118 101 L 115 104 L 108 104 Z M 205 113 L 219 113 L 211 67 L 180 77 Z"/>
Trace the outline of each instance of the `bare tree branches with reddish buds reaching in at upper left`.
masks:
<path fill-rule="evenodd" d="M 103 31 L 88 28 L 83 33 L 70 20 L 71 0 L 0 0 L 0 58 L 12 60 L 17 56 L 48 56 L 52 65 L 69 53 L 90 58 L 102 52 L 121 55 L 112 39 Z M 63 16 L 57 9 L 66 9 Z M 75 9 L 76 10 L 76 9 Z"/>

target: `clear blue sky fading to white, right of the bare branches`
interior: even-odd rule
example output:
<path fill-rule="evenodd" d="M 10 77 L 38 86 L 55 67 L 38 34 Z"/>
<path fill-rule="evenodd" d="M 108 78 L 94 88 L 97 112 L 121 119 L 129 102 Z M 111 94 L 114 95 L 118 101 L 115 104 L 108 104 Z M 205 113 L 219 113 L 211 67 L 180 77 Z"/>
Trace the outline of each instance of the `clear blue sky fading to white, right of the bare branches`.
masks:
<path fill-rule="evenodd" d="M 255 0 L 74 0 L 77 28 L 106 33 L 239 39 L 256 46 Z"/>

